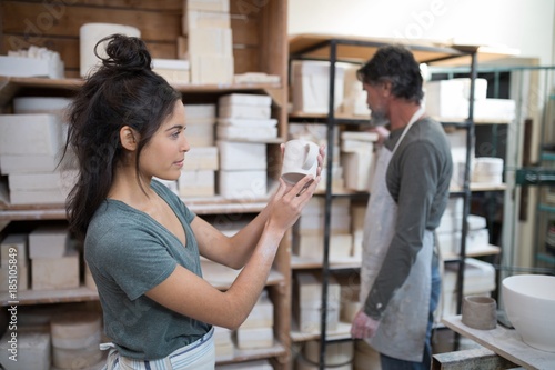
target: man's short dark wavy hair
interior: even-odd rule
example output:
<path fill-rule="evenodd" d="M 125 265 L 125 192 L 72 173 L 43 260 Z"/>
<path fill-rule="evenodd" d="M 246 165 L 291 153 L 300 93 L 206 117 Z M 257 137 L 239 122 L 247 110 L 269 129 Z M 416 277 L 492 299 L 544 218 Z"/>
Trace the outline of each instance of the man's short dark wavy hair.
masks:
<path fill-rule="evenodd" d="M 402 46 L 385 46 L 356 71 L 360 81 L 376 84 L 392 83 L 392 93 L 397 98 L 421 102 L 422 74 L 412 52 Z"/>

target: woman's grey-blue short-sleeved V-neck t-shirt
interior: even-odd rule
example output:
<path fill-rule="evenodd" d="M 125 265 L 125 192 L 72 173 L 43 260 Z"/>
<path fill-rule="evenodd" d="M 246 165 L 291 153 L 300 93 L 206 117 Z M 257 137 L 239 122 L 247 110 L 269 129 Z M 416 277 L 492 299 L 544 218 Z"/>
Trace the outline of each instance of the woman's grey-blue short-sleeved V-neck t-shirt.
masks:
<path fill-rule="evenodd" d="M 211 328 L 144 296 L 178 263 L 202 277 L 190 226 L 195 214 L 160 182 L 153 180 L 151 187 L 183 224 L 185 247 L 147 213 L 111 199 L 94 213 L 84 241 L 84 258 L 99 290 L 107 336 L 121 354 L 150 360 L 195 341 Z"/>

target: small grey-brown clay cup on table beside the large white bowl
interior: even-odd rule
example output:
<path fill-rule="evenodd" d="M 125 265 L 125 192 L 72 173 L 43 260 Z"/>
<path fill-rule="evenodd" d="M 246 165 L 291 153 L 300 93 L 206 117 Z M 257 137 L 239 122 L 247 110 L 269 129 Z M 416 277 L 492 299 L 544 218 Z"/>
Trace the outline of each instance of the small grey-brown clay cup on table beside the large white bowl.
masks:
<path fill-rule="evenodd" d="M 492 330 L 497 326 L 497 303 L 483 296 L 467 296 L 463 301 L 463 323 L 473 329 Z"/>

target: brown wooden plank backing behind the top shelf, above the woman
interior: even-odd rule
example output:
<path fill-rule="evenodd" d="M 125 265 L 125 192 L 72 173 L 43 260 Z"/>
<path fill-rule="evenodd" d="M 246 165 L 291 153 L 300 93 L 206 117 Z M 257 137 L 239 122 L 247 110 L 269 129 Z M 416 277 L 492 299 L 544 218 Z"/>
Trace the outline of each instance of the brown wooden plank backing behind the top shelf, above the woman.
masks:
<path fill-rule="evenodd" d="M 0 53 L 31 44 L 58 51 L 65 63 L 67 77 L 79 77 L 79 29 L 89 22 L 129 24 L 141 30 L 154 58 L 176 58 L 176 39 L 182 34 L 183 0 L 8 0 L 0 3 Z M 282 63 L 270 50 L 282 52 L 283 42 L 275 38 L 272 18 L 281 19 L 281 0 L 230 1 L 235 73 L 264 71 L 276 73 L 271 66 Z M 281 27 L 276 30 L 281 33 Z M 276 40 L 280 40 L 276 42 Z M 264 44 L 263 44 L 264 43 Z M 272 47 L 268 47 L 271 44 Z M 261 49 L 269 49 L 262 52 Z M 280 71 L 281 72 L 281 71 Z"/>

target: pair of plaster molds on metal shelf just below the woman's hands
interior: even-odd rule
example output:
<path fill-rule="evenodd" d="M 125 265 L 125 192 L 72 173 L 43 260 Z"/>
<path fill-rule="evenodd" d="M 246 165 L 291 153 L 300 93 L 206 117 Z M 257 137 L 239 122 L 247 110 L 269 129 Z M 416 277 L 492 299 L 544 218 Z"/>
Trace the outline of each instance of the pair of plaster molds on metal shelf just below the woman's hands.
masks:
<path fill-rule="evenodd" d="M 330 261 L 350 260 L 353 256 L 351 233 L 351 201 L 333 199 L 330 221 Z M 324 248 L 325 199 L 312 198 L 303 209 L 293 230 L 293 253 L 302 258 L 322 260 Z"/>

